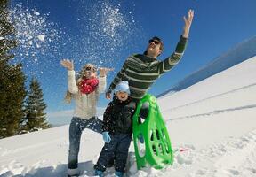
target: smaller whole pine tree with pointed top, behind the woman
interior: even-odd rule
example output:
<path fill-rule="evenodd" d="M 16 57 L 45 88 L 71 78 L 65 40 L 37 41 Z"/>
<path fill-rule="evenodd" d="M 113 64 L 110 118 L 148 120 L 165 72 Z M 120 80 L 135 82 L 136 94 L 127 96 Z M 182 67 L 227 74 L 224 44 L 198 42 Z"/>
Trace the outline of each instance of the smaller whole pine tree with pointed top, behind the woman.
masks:
<path fill-rule="evenodd" d="M 43 90 L 40 88 L 40 84 L 36 78 L 32 78 L 30 81 L 28 97 L 25 102 L 26 117 L 23 125 L 26 124 L 26 126 L 23 129 L 33 132 L 39 129 L 49 128 L 46 113 L 44 113 L 46 104 L 44 104 Z"/>

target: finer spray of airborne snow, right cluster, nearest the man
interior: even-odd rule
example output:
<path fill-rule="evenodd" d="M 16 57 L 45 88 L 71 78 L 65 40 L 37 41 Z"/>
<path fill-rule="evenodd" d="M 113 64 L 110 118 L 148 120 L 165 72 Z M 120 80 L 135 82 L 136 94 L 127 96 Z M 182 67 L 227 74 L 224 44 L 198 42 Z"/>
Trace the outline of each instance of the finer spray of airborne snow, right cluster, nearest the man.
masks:
<path fill-rule="evenodd" d="M 111 4 L 110 1 L 82 4 L 79 14 L 79 28 L 83 31 L 76 47 L 79 63 L 90 61 L 96 65 L 113 65 L 118 63 L 122 51 L 134 47 L 131 45 L 133 35 L 138 35 L 140 29 L 132 19 L 132 11 L 125 12 L 121 4 Z"/>

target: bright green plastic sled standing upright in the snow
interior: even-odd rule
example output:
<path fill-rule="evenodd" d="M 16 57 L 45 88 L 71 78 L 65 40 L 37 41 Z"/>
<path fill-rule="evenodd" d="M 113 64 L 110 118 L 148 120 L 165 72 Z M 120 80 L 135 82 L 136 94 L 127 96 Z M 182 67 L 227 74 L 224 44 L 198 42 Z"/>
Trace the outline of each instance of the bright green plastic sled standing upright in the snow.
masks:
<path fill-rule="evenodd" d="M 148 117 L 141 123 L 140 108 L 147 102 Z M 172 165 L 172 145 L 155 96 L 147 94 L 140 100 L 133 116 L 132 128 L 138 170 L 147 164 L 156 169 L 161 169 L 164 165 Z M 144 142 L 139 141 L 141 135 Z"/>

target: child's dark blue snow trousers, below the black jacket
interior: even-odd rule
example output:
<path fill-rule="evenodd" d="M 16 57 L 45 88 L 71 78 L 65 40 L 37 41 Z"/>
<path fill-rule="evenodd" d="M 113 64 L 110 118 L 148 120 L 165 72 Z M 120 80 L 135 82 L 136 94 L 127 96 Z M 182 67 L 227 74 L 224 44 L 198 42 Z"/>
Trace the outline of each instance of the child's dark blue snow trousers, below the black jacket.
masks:
<path fill-rule="evenodd" d="M 111 141 L 105 142 L 94 169 L 104 172 L 109 162 L 115 158 L 116 171 L 124 173 L 132 136 L 131 134 L 119 134 L 110 135 L 110 137 Z"/>

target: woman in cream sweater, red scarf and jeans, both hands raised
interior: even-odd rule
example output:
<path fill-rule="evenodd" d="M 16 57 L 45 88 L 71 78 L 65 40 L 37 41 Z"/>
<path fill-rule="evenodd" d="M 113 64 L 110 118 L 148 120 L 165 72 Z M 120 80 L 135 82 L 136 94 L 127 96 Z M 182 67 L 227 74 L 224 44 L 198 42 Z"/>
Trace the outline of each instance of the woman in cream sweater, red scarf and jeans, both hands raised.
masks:
<path fill-rule="evenodd" d="M 76 103 L 69 126 L 68 176 L 78 176 L 77 157 L 84 128 L 102 133 L 102 121 L 95 116 L 96 104 L 100 93 L 106 88 L 106 74 L 110 69 L 100 68 L 100 77 L 97 77 L 96 67 L 86 64 L 75 78 L 73 62 L 63 59 L 60 63 L 68 69 L 68 92 L 65 99 L 70 103 L 74 98 Z"/>

